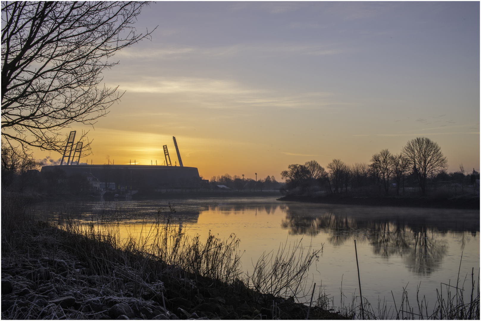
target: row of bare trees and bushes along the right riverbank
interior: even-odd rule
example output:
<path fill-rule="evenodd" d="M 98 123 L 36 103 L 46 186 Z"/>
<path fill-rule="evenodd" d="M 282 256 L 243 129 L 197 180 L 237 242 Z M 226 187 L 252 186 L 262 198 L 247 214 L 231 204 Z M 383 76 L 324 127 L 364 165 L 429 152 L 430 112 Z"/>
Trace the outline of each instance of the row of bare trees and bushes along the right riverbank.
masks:
<path fill-rule="evenodd" d="M 460 165 L 459 172 L 446 173 L 448 162 L 439 145 L 426 137 L 417 137 L 407 142 L 399 154 L 392 154 L 388 149 L 372 155 L 370 164 L 346 164 L 333 159 L 322 167 L 316 160 L 301 164 L 291 164 L 282 171 L 286 180 L 284 192 L 293 194 L 311 194 L 321 190 L 330 194 L 345 192 L 367 192 L 373 189 L 378 194 L 388 195 L 390 189 L 405 193 L 405 187 L 418 187 L 423 196 L 427 195 L 430 183 L 449 183 L 455 189 L 475 184 L 479 173 L 473 169 L 465 174 Z"/>

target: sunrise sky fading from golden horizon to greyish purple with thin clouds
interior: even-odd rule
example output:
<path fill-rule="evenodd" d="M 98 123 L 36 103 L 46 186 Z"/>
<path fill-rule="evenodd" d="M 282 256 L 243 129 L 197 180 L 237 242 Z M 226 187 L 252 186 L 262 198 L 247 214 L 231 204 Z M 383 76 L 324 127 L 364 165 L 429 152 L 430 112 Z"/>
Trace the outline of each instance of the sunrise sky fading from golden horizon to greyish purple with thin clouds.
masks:
<path fill-rule="evenodd" d="M 157 2 L 103 74 L 124 95 L 90 130 L 94 164 L 158 164 L 176 136 L 205 179 L 369 163 L 408 140 L 480 169 L 480 3 Z M 68 134 L 70 129 L 65 131 Z M 38 158 L 46 155 L 36 152 Z M 177 161 L 178 164 L 178 161 Z"/>

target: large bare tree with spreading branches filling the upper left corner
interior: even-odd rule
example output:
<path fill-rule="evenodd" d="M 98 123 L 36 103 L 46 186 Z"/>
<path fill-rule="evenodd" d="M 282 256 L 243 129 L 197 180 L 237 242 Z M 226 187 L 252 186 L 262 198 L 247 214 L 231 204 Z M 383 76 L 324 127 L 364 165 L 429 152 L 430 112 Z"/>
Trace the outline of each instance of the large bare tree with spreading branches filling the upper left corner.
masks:
<path fill-rule="evenodd" d="M 101 73 L 119 63 L 109 60 L 117 50 L 150 37 L 132 26 L 146 3 L 2 2 L 2 141 L 60 151 L 64 128 L 105 116 L 122 95 L 98 87 Z"/>

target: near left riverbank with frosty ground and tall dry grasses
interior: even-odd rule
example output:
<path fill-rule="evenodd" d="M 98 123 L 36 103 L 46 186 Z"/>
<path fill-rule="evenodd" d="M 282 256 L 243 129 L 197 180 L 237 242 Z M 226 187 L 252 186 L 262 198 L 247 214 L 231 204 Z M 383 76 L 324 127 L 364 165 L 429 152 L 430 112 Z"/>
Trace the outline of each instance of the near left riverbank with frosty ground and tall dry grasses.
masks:
<path fill-rule="evenodd" d="M 253 289 L 235 240 L 186 240 L 159 225 L 153 245 L 120 243 L 112 222 L 44 222 L 21 198 L 3 198 L 1 215 L 2 319 L 343 318 L 323 309 L 322 297 L 308 312 L 293 297 Z"/>

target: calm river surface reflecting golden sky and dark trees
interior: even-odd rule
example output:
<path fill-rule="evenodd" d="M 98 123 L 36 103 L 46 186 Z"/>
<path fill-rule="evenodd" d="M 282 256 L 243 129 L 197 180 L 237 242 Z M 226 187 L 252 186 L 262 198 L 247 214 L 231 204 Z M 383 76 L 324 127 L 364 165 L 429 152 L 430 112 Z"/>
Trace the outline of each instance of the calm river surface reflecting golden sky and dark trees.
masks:
<path fill-rule="evenodd" d="M 354 239 L 357 244 L 363 296 L 377 305 L 392 305 L 403 287 L 412 303 L 417 287 L 434 307 L 441 283 L 460 286 L 475 279 L 480 268 L 479 210 L 342 206 L 280 202 L 276 198 L 197 198 L 172 200 L 176 217 L 189 234 L 205 239 L 211 231 L 220 238 L 235 233 L 241 239 L 242 269 L 252 272 L 264 251 L 280 243 L 300 240 L 304 246 L 323 247 L 322 257 L 310 269 L 311 278 L 339 305 L 342 292 L 349 302 L 359 293 Z M 116 215 L 122 234 L 139 235 L 142 221 L 153 222 L 167 201 L 76 202 L 38 205 L 38 212 L 74 213 L 82 220 Z M 462 260 L 461 260 L 462 254 Z M 460 265 L 461 261 L 461 265 Z M 310 284 L 310 283 L 309 283 Z M 445 286 L 444 286 L 445 288 Z"/>

